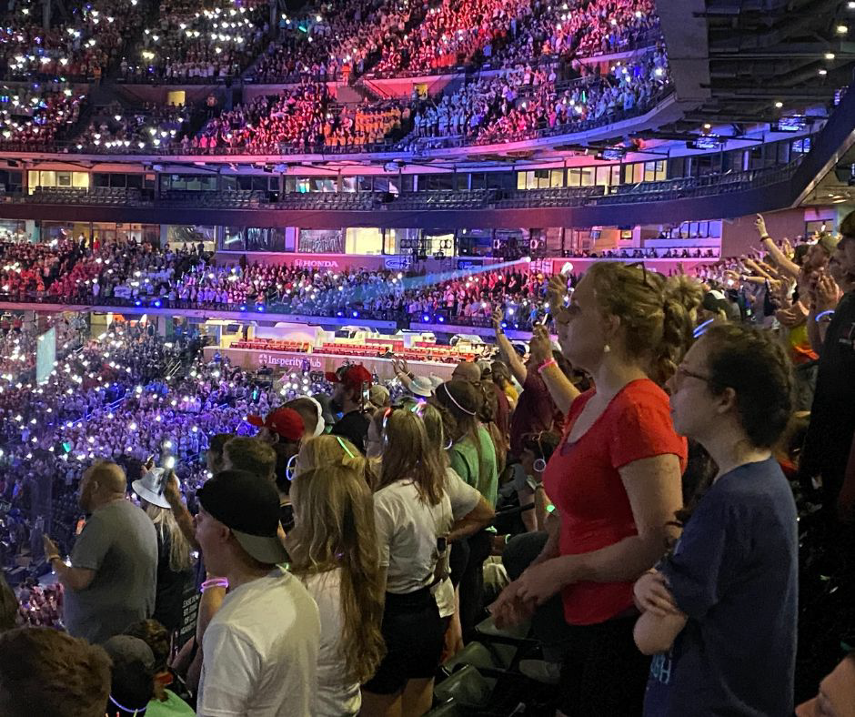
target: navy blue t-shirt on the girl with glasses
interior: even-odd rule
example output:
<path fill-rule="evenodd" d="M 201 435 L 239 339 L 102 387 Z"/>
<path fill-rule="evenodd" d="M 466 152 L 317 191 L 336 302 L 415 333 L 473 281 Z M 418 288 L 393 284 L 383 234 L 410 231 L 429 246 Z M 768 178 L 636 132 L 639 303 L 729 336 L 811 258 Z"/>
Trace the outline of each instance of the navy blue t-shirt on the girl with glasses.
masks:
<path fill-rule="evenodd" d="M 774 459 L 721 476 L 659 565 L 689 616 L 650 668 L 645 717 L 790 717 L 796 505 Z"/>

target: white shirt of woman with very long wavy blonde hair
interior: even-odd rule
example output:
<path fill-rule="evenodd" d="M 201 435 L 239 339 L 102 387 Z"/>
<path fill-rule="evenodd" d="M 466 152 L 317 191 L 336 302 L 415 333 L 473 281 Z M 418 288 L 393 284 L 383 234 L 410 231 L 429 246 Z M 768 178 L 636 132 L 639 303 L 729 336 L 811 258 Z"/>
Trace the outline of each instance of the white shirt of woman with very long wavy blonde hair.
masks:
<path fill-rule="evenodd" d="M 362 706 L 359 683 L 345 682 L 346 666 L 341 653 L 345 629 L 341 610 L 341 571 L 319 572 L 303 578 L 320 612 L 321 634 L 317 651 L 317 717 L 351 717 Z"/>

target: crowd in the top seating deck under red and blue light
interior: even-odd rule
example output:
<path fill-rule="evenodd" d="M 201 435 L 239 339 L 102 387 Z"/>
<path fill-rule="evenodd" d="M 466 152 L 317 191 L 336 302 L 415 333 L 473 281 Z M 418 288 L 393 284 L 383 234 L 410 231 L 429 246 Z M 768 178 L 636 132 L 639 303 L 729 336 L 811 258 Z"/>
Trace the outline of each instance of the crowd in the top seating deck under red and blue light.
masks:
<path fill-rule="evenodd" d="M 652 45 L 658 19 L 648 0 L 444 0 L 420 7 L 366 0 L 307 8 L 293 17 L 282 13 L 276 38 L 264 3 L 218 2 L 200 12 L 186 0 L 170 0 L 160 5 L 154 25 L 146 26 L 147 4 L 128 2 L 86 4 L 75 14 L 82 27 L 60 23 L 41 34 L 35 25 L 2 30 L 10 33 L 2 45 L 10 63 L 6 74 L 41 82 L 0 95 L 0 146 L 63 143 L 96 153 L 212 154 L 358 151 L 389 143 L 408 148 L 437 139 L 485 144 L 637 113 L 669 84 L 662 50 L 618 63 L 603 75 L 592 69 L 597 65 L 584 63 L 636 41 Z M 18 8 L 24 10 L 35 13 Z M 143 28 L 138 35 L 137 27 Z M 58 41 L 68 46 L 55 46 Z M 419 74 L 461 63 L 492 71 L 450 94 L 367 98 L 360 105 L 337 105 L 326 85 L 347 81 L 352 73 Z M 100 76 L 108 66 L 116 66 L 127 82 L 214 83 L 252 66 L 248 76 L 255 81 L 298 84 L 234 108 L 226 103 L 219 112 L 212 95 L 208 121 L 199 131 L 188 122 L 191 110 L 176 106 L 96 108 L 87 126 L 76 127 L 85 96 L 66 81 L 95 68 Z"/>

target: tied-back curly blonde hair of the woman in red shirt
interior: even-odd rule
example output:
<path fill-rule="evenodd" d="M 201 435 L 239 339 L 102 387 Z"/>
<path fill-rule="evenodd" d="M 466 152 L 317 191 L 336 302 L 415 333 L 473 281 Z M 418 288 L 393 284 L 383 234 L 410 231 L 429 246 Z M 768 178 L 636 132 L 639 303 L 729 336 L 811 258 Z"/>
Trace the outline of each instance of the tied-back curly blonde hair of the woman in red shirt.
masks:
<path fill-rule="evenodd" d="M 650 379 L 664 385 L 691 344 L 700 284 L 619 261 L 595 262 L 585 276 L 603 313 L 620 319 L 629 356 L 645 358 Z"/>

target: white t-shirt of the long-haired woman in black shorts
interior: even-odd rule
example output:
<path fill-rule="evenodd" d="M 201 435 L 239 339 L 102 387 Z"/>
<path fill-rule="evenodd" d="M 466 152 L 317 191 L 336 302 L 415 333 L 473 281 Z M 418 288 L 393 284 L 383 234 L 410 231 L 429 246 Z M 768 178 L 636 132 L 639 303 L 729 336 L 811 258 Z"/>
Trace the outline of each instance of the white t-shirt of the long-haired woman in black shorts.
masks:
<path fill-rule="evenodd" d="M 454 522 L 448 493 L 429 505 L 418 497 L 412 480 L 397 480 L 374 494 L 374 517 L 380 566 L 387 568 L 386 591 L 406 594 L 427 588 L 439 558 L 437 539 Z"/>

